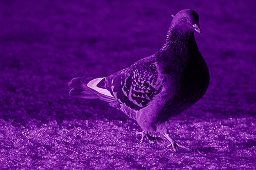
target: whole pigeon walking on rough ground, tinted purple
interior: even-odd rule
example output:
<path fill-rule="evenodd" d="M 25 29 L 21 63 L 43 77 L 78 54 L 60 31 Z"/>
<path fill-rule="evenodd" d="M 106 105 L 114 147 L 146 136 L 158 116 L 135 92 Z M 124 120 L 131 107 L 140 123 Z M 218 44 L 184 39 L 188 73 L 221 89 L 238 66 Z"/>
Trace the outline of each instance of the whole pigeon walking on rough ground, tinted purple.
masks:
<path fill-rule="evenodd" d="M 74 78 L 69 94 L 100 99 L 124 112 L 143 130 L 137 133 L 141 142 L 156 133 L 168 139 L 174 152 L 177 147 L 191 151 L 173 138 L 168 125 L 205 94 L 209 70 L 194 36 L 201 34 L 197 12 L 185 9 L 172 16 L 165 43 L 154 55 L 108 77 Z"/>

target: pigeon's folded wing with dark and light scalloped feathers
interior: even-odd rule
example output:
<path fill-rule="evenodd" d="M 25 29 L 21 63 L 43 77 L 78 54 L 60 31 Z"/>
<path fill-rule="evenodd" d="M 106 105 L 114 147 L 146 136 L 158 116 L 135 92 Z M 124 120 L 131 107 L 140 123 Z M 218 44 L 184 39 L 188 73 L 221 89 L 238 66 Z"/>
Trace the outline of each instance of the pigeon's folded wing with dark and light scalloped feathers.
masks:
<path fill-rule="evenodd" d="M 104 84 L 119 103 L 139 110 L 159 93 L 157 78 L 156 60 L 154 56 L 150 56 L 106 77 Z"/>

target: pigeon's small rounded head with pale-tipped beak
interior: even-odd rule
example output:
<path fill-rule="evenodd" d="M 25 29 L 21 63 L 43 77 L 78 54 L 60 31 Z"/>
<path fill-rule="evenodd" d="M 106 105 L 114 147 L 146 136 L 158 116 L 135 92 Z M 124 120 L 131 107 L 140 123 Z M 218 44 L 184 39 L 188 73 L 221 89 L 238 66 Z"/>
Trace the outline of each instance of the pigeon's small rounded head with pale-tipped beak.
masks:
<path fill-rule="evenodd" d="M 172 15 L 173 16 L 173 15 Z M 185 9 L 173 16 L 170 29 L 182 29 L 184 32 L 198 32 L 201 34 L 199 26 L 199 16 L 194 10 Z"/>

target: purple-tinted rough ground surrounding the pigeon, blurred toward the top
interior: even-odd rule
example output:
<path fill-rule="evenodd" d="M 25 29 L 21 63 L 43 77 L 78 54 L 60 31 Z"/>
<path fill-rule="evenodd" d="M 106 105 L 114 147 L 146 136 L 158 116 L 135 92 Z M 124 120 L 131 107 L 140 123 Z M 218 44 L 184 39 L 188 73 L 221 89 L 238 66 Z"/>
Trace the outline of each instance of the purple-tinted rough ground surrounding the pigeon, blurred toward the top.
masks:
<path fill-rule="evenodd" d="M 1 169 L 256 167 L 253 1 L 34 2 L 0 2 Z M 211 79 L 169 130 L 194 153 L 140 144 L 123 113 L 69 98 L 73 77 L 107 76 L 154 54 L 170 15 L 187 8 L 199 13 Z"/>

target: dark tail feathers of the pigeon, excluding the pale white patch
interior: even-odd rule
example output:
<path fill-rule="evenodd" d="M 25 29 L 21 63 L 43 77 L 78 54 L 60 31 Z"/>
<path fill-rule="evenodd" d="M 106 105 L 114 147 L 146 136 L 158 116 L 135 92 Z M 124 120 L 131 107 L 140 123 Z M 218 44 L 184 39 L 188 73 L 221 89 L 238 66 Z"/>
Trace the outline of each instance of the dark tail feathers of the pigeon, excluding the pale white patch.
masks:
<path fill-rule="evenodd" d="M 94 78 L 74 78 L 69 82 L 69 95 L 76 98 L 99 99 L 100 96 L 87 87 L 87 83 Z"/>

